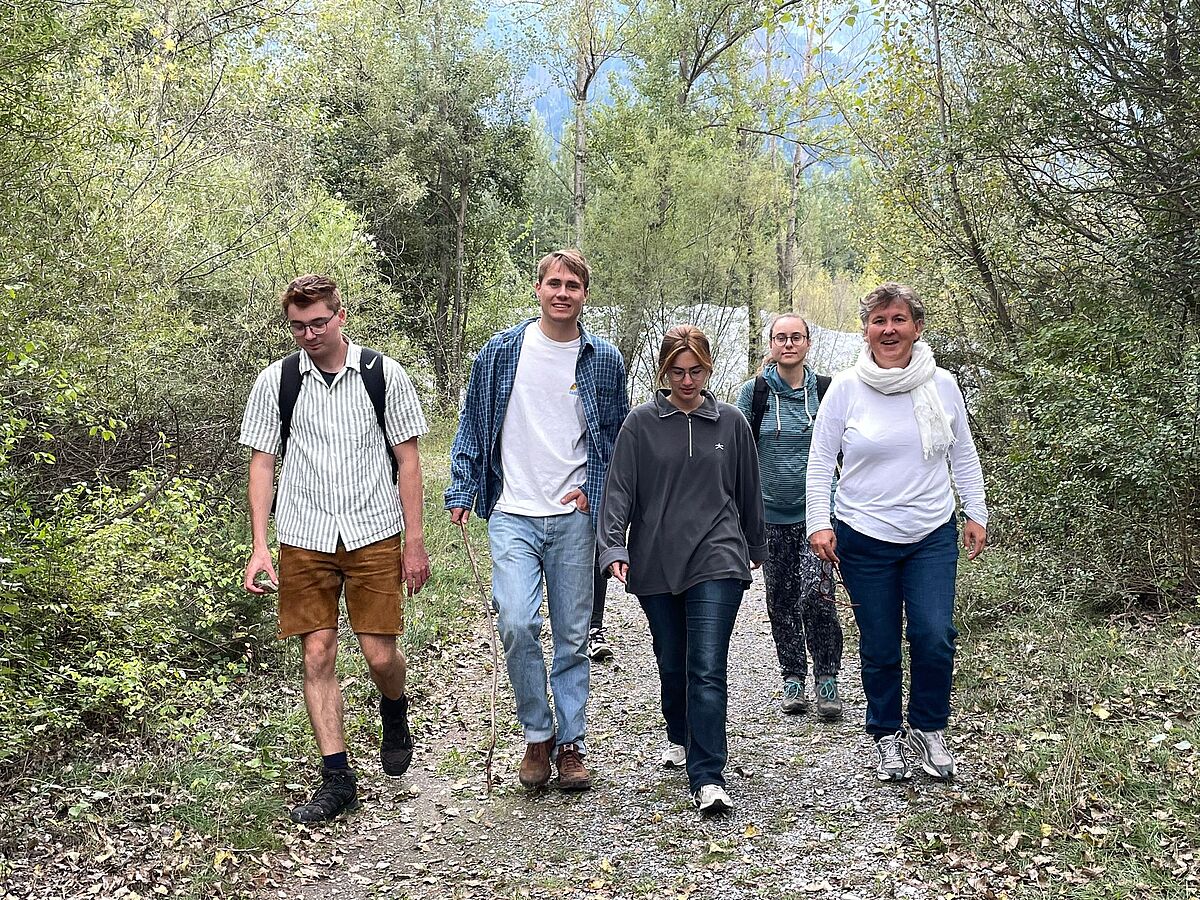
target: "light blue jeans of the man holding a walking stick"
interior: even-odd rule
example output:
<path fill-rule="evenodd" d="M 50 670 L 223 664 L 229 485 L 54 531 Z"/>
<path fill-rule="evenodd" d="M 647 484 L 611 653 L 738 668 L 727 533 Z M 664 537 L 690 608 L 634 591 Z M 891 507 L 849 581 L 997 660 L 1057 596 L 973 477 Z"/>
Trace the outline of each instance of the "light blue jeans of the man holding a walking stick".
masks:
<path fill-rule="evenodd" d="M 527 743 L 556 734 L 546 696 L 546 658 L 541 652 L 541 589 L 546 583 L 554 660 L 550 689 L 558 719 L 557 743 L 580 744 L 587 732 L 588 619 L 595 530 L 587 512 L 514 516 L 494 510 L 487 520 L 492 548 L 492 602 L 496 605 L 504 661 Z"/>

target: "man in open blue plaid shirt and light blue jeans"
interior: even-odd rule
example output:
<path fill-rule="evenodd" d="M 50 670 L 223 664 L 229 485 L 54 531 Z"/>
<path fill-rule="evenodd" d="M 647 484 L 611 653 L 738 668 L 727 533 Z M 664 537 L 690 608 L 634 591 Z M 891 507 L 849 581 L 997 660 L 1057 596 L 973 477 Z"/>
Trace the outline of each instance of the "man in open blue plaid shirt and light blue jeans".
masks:
<path fill-rule="evenodd" d="M 518 776 L 529 788 L 550 781 L 552 758 L 562 790 L 592 786 L 583 740 L 596 508 L 629 397 L 620 353 L 580 324 L 590 276 L 577 250 L 538 264 L 541 314 L 494 335 L 472 366 L 445 492 L 456 524 L 472 508 L 488 520 L 492 595 L 526 739 Z"/>

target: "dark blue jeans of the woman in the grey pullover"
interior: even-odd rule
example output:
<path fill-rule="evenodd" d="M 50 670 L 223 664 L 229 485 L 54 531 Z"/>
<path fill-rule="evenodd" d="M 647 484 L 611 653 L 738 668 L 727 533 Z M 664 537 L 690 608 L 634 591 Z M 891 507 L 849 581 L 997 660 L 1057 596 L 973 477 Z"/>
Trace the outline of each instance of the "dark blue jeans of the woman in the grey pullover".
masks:
<path fill-rule="evenodd" d="M 724 785 L 730 637 L 742 582 L 704 581 L 682 594 L 638 600 L 654 638 L 667 740 L 688 748 L 688 785 Z"/>

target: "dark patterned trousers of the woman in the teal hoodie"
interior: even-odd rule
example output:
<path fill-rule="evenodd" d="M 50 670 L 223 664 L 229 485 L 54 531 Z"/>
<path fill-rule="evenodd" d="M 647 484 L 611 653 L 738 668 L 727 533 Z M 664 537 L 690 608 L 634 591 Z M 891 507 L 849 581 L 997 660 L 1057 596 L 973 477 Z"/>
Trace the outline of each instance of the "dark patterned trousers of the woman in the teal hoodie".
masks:
<path fill-rule="evenodd" d="M 767 526 L 767 616 L 784 679 L 808 674 L 805 643 L 812 654 L 812 677 L 841 671 L 841 623 L 833 596 L 833 564 L 822 563 L 804 536 L 804 522 Z"/>

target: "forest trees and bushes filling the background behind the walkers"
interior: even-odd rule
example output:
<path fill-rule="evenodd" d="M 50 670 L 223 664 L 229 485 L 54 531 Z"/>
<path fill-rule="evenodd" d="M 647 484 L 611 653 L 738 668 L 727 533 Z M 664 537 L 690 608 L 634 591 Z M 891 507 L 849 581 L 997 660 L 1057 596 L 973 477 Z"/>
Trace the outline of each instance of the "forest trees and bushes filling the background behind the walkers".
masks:
<path fill-rule="evenodd" d="M 1194 608 L 1193 5 L 0 8 L 0 764 L 169 734 L 272 652 L 236 431 L 302 271 L 440 416 L 556 246 L 628 356 L 704 305 L 746 372 L 763 312 L 912 282 L 994 538 L 1061 562 L 1028 589 Z"/>

